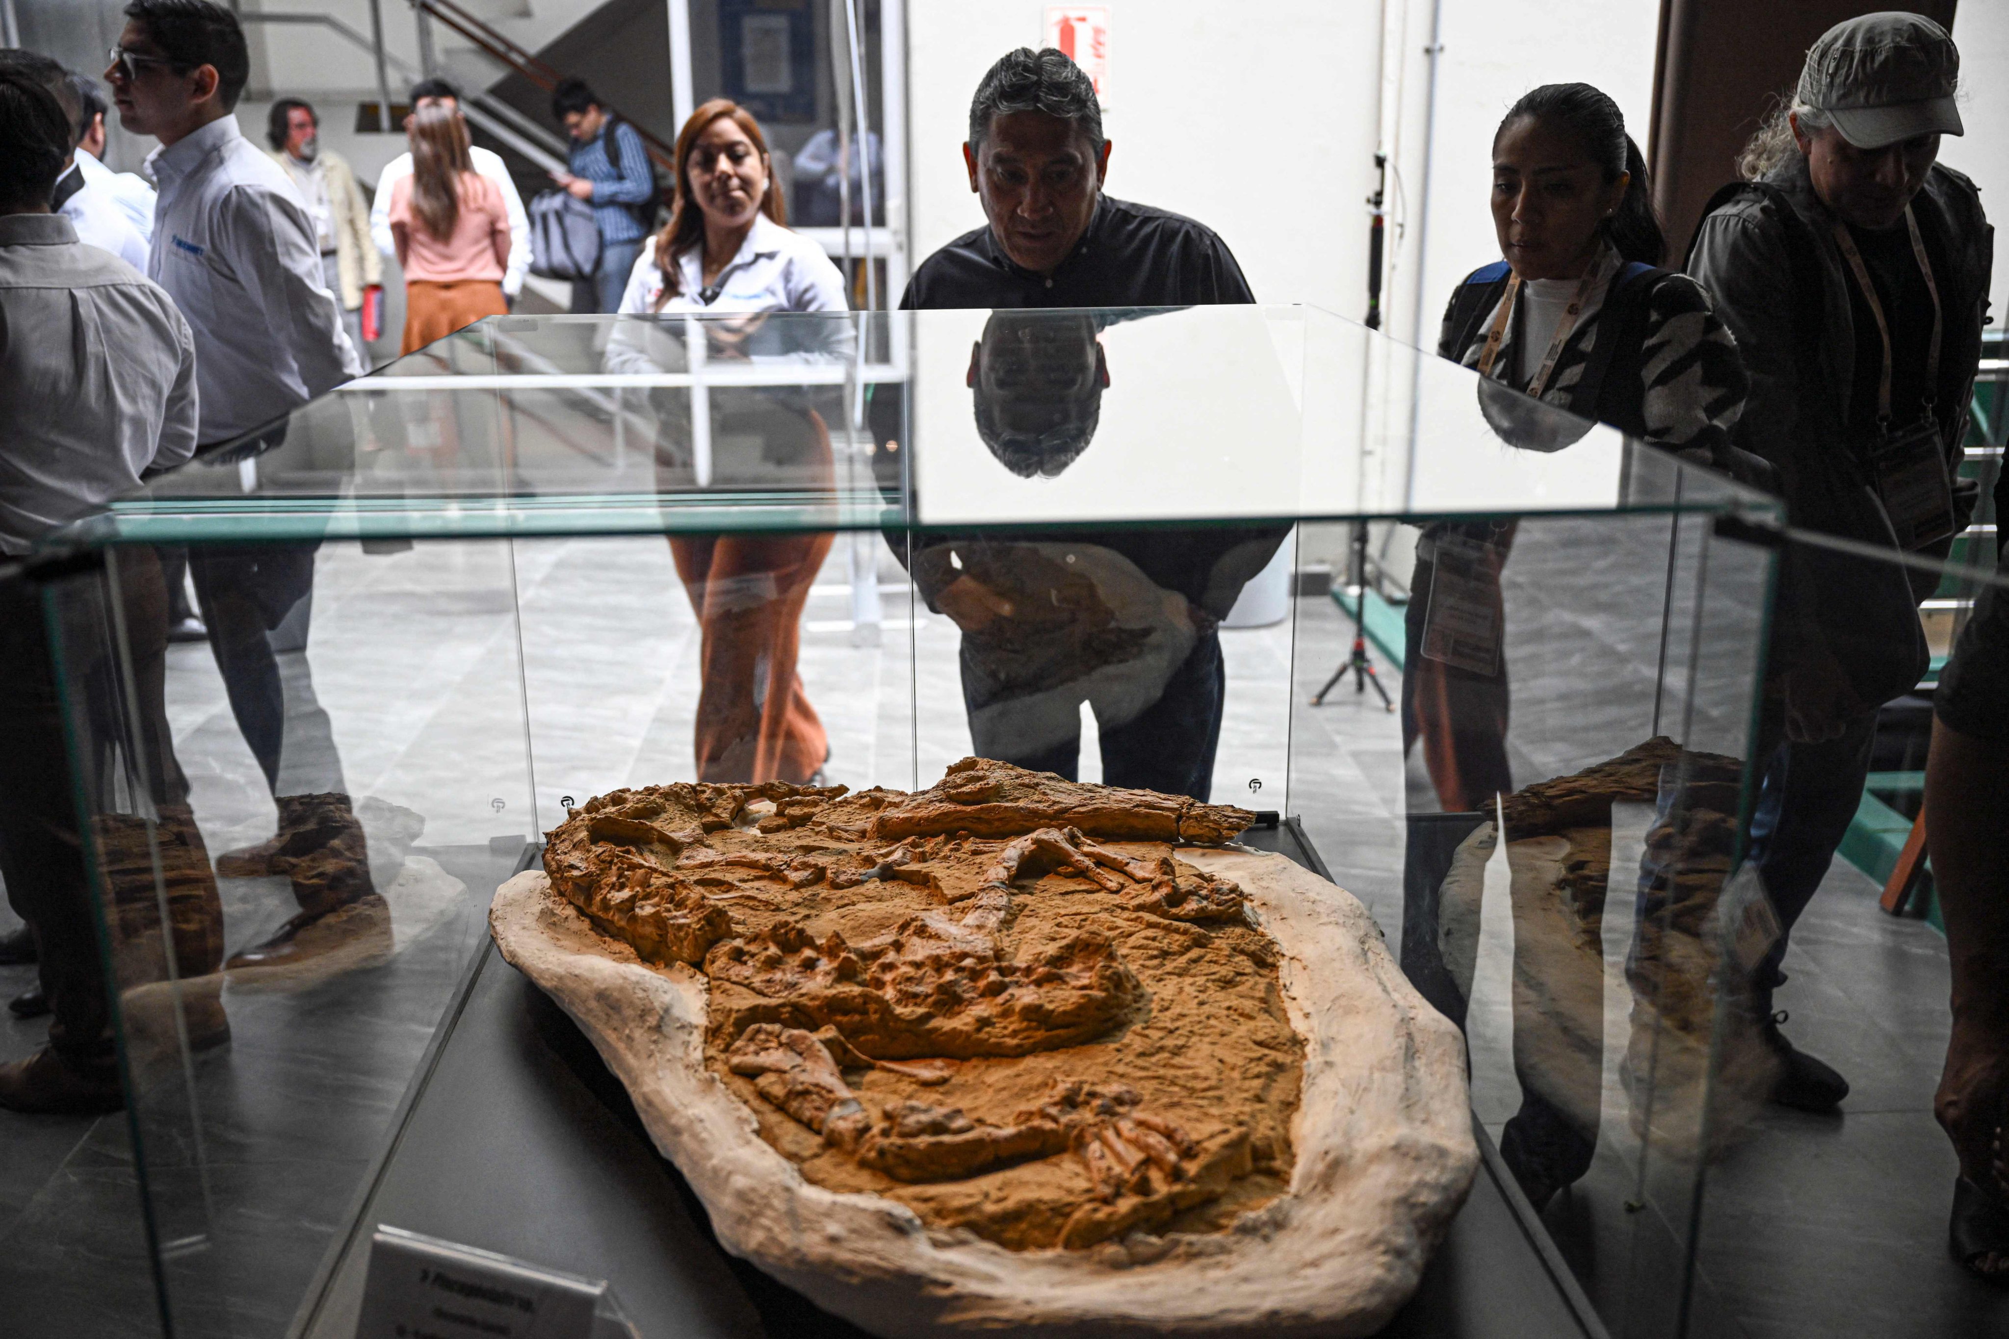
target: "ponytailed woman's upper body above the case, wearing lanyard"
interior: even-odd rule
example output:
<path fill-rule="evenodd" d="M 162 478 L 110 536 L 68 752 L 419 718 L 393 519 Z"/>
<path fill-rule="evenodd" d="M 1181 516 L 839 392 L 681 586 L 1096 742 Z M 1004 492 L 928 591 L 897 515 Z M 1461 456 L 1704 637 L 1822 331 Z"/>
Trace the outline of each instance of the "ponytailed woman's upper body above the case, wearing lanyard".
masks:
<path fill-rule="evenodd" d="M 1438 353 L 1728 468 L 1744 363 L 1702 285 L 1659 269 L 1645 159 L 1609 96 L 1543 84 L 1513 104 L 1493 135 L 1493 227 L 1505 259 L 1459 285 Z"/>

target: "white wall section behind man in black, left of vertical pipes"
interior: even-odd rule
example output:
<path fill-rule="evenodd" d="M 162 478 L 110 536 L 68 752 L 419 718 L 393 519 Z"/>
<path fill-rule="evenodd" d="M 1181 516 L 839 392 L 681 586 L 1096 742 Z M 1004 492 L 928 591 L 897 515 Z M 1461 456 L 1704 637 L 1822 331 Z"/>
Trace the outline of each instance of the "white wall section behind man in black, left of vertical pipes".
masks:
<path fill-rule="evenodd" d="M 1045 8 L 910 0 L 916 261 L 982 225 L 960 149 L 970 94 L 1007 50 L 1045 44 Z M 1109 193 L 1217 231 L 1258 299 L 1358 317 L 1378 24 L 1378 0 L 1111 6 Z"/>

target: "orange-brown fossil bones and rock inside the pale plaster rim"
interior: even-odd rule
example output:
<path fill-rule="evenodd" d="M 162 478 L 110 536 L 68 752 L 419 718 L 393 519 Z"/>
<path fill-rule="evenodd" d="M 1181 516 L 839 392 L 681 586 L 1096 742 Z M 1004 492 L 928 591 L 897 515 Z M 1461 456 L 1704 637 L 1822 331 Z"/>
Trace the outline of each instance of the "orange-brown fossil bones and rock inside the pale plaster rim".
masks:
<path fill-rule="evenodd" d="M 544 869 L 705 976 L 705 1062 L 806 1178 L 1079 1249 L 1221 1231 L 1290 1180 L 1276 946 L 1179 859 L 1254 817 L 964 759 L 918 793 L 615 791 Z"/>

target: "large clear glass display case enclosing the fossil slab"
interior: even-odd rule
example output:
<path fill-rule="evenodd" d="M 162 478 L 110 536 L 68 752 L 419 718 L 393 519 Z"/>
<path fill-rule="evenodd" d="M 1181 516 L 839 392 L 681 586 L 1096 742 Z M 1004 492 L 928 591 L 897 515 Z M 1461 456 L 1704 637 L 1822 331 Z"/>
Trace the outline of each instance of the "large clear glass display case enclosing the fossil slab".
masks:
<path fill-rule="evenodd" d="M 812 1333 L 486 909 L 593 795 L 982 755 L 1258 811 L 1465 1030 L 1467 1265 L 1390 1333 L 1682 1333 L 1780 542 L 1318 309 L 482 321 L 24 578 L 131 1146 L 0 1269 L 50 1317 L 346 1339 L 390 1223 L 615 1279 L 641 1333 Z"/>

